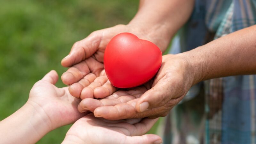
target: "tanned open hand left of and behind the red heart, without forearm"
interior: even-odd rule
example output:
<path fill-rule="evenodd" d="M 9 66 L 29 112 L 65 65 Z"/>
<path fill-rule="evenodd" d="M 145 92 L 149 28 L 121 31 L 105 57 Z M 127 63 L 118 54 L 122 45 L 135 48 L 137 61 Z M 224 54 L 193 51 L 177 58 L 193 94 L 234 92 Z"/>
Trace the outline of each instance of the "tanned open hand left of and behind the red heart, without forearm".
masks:
<path fill-rule="evenodd" d="M 98 92 L 102 93 L 102 91 L 94 92 L 96 87 L 103 86 L 105 95 L 113 93 L 108 90 L 117 90 L 108 81 L 104 71 L 103 58 L 108 42 L 123 32 L 130 32 L 141 39 L 154 41 L 134 26 L 117 25 L 94 31 L 85 39 L 76 42 L 69 55 L 61 61 L 62 66 L 71 67 L 61 76 L 63 83 L 70 85 L 71 95 L 82 99 L 85 97 L 100 98 L 98 96 L 101 94 Z"/>

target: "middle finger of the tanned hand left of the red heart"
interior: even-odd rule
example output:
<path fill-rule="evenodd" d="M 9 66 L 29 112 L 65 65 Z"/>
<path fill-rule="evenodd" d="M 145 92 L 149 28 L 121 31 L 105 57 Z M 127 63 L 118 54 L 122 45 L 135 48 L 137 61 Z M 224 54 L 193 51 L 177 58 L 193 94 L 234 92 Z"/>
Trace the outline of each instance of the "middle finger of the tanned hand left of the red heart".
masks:
<path fill-rule="evenodd" d="M 84 87 L 91 84 L 95 79 L 96 75 L 94 75 L 93 73 L 89 73 L 88 75 L 84 76 L 84 78 L 82 78 L 79 82 L 71 84 L 68 87 L 68 91 L 72 96 L 79 98 Z"/>

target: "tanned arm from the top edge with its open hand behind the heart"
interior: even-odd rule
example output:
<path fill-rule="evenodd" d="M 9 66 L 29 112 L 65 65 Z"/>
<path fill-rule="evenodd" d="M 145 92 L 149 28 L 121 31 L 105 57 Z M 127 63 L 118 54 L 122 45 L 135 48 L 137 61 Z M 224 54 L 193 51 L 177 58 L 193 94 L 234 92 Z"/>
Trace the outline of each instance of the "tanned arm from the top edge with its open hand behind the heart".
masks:
<path fill-rule="evenodd" d="M 170 39 L 188 20 L 194 7 L 194 0 L 140 0 L 135 17 L 127 25 L 92 32 L 85 39 L 76 42 L 61 64 L 71 67 L 61 79 L 69 85 L 69 92 L 77 98 L 104 98 L 116 92 L 104 71 L 104 51 L 112 37 L 130 32 L 140 39 L 156 44 L 164 52 Z"/>

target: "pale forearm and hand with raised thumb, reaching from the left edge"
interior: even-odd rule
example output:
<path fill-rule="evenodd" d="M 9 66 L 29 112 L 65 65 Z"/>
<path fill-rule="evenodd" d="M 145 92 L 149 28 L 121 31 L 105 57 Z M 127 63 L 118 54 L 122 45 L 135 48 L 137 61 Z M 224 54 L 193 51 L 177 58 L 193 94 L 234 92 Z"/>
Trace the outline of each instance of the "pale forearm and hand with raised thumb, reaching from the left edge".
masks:
<path fill-rule="evenodd" d="M 30 91 L 27 103 L 0 122 L 0 143 L 36 143 L 46 133 L 75 122 L 85 114 L 77 110 L 79 99 L 68 88 L 57 88 L 58 74 L 51 71 Z"/>

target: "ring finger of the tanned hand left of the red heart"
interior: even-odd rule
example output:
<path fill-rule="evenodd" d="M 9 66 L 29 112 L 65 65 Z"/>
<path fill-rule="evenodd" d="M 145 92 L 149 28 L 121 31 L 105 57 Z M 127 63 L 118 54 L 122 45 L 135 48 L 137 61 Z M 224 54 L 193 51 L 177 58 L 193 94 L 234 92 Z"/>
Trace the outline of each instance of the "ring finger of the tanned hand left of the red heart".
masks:
<path fill-rule="evenodd" d="M 85 87 L 81 92 L 81 99 L 85 98 L 94 98 L 93 90 L 96 87 L 102 86 L 106 81 L 108 80 L 107 76 L 99 76 L 97 77 L 91 84 L 89 84 L 87 87 Z"/>

